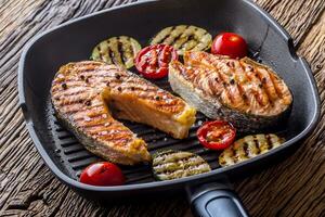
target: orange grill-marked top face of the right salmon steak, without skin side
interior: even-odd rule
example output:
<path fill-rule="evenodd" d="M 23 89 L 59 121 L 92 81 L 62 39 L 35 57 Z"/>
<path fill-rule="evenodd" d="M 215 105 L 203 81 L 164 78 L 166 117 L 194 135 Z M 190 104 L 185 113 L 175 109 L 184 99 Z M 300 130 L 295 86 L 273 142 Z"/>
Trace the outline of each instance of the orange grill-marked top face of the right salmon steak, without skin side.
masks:
<path fill-rule="evenodd" d="M 288 87 L 271 68 L 248 58 L 233 60 L 191 52 L 185 54 L 184 61 L 193 67 L 186 68 L 191 81 L 208 90 L 209 97 L 220 94 L 221 102 L 231 108 L 272 116 L 286 110 L 292 101 Z M 200 72 L 207 67 L 207 73 Z M 216 85 L 219 88 L 214 88 Z"/>

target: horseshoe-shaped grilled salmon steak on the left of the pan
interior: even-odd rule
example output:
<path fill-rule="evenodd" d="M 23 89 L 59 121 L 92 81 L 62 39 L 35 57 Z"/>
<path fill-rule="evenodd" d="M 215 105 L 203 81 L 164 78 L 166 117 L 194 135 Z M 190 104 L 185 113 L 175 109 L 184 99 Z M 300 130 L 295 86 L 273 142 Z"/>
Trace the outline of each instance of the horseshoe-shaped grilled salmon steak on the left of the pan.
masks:
<path fill-rule="evenodd" d="M 56 73 L 51 100 L 57 118 L 92 153 L 114 163 L 151 161 L 144 140 L 114 117 L 143 123 L 184 138 L 195 108 L 116 65 L 84 61 Z"/>

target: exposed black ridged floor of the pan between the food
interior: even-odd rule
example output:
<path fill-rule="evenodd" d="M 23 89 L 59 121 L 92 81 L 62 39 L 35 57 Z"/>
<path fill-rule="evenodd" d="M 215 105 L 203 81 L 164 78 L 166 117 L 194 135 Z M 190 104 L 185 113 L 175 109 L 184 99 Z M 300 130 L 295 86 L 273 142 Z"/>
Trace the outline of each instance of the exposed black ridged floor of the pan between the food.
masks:
<path fill-rule="evenodd" d="M 156 85 L 171 91 L 166 79 L 156 82 Z M 83 145 L 75 138 L 75 136 L 61 125 L 61 123 L 55 117 L 54 110 L 50 100 L 48 100 L 47 105 L 47 122 L 49 124 L 49 129 L 51 129 L 50 133 L 53 138 L 55 155 L 65 166 L 65 169 L 69 173 L 69 176 L 78 180 L 81 170 L 86 166 L 88 166 L 91 163 L 103 159 L 88 152 L 83 148 Z M 203 156 L 213 169 L 219 167 L 219 153 L 204 149 L 196 138 L 197 128 L 207 119 L 208 118 L 206 118 L 203 114 L 198 114 L 196 123 L 190 130 L 188 138 L 184 140 L 173 139 L 165 132 L 154 129 L 150 126 L 130 123 L 127 120 L 122 120 L 122 123 L 127 127 L 129 127 L 133 132 L 135 132 L 138 137 L 143 138 L 146 141 L 151 154 L 162 150 L 188 151 Z M 139 164 L 135 166 L 121 166 L 121 168 L 127 177 L 127 183 L 141 183 L 154 181 L 151 165 Z"/>

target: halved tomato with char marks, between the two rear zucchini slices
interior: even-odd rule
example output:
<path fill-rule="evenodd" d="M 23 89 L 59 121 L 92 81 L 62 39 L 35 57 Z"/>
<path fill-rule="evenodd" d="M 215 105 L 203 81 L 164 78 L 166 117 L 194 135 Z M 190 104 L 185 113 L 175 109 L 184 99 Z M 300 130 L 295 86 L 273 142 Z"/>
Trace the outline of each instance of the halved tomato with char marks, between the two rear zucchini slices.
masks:
<path fill-rule="evenodd" d="M 158 79 L 167 76 L 169 63 L 177 59 L 178 54 L 171 46 L 148 46 L 138 53 L 135 67 L 144 77 Z"/>

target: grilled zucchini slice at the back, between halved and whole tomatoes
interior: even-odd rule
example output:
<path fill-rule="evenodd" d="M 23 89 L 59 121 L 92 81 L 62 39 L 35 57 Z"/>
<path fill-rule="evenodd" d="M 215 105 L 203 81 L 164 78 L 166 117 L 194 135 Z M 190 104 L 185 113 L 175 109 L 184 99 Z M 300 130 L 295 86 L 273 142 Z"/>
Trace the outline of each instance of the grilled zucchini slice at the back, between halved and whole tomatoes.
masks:
<path fill-rule="evenodd" d="M 212 36 L 196 26 L 170 26 L 160 30 L 151 41 L 151 44 L 158 43 L 172 46 L 179 55 L 183 55 L 185 51 L 208 50 L 212 43 Z"/>

